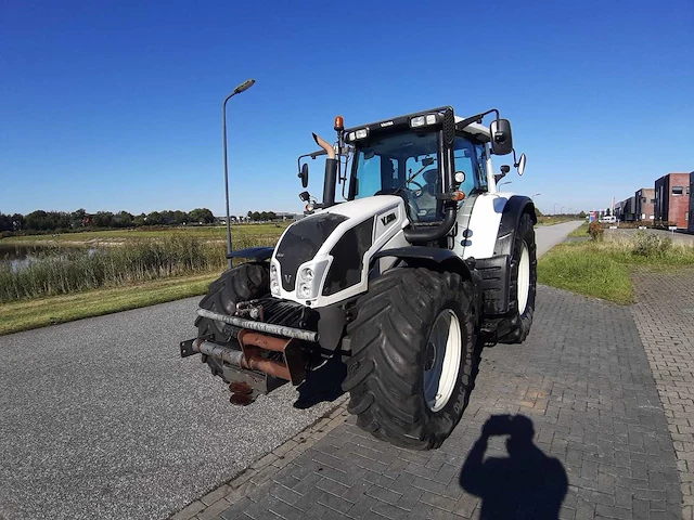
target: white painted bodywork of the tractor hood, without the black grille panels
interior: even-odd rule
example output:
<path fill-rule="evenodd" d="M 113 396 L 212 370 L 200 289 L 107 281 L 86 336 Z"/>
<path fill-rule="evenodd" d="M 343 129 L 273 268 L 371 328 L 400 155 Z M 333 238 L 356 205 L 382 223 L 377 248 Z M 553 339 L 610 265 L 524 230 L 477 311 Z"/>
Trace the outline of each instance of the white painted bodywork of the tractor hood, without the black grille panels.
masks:
<path fill-rule="evenodd" d="M 325 307 L 332 303 L 339 302 L 342 300 L 345 300 L 346 298 L 350 298 L 358 294 L 364 292 L 368 289 L 369 264 L 374 253 L 380 251 L 386 244 L 388 245 L 388 248 L 402 247 L 408 245 L 408 242 L 404 239 L 402 229 L 408 226 L 410 222 L 407 218 L 404 202 L 398 196 L 378 195 L 374 197 L 361 198 L 332 206 L 331 208 L 317 212 L 317 214 L 318 213 L 342 214 L 344 217 L 347 217 L 348 220 L 342 222 L 339 225 L 337 225 L 337 227 L 335 227 L 335 230 L 331 233 L 331 235 L 323 243 L 323 245 L 320 247 L 312 259 L 299 265 L 296 273 L 291 273 L 297 276 L 297 282 L 295 284 L 294 290 L 287 291 L 284 289 L 284 287 L 282 287 L 282 284 L 279 284 L 279 294 L 273 294 L 274 297 L 293 300 L 313 308 Z M 390 217 L 391 214 L 395 216 L 395 219 Z M 375 231 L 372 237 L 372 245 L 367 250 L 367 253 L 363 257 L 360 282 L 333 295 L 323 296 L 323 284 L 325 283 L 325 277 L 327 276 L 327 272 L 330 271 L 330 266 L 333 262 L 333 257 L 330 255 L 330 251 L 343 237 L 345 232 L 359 225 L 365 220 L 369 220 L 372 217 L 374 218 Z M 390 217 L 390 219 L 386 219 L 386 217 Z M 287 227 L 287 230 L 290 227 Z M 287 230 L 285 230 L 280 237 L 280 242 L 282 240 L 282 238 L 284 238 Z M 274 269 L 280 276 L 279 280 L 282 280 L 281 276 L 283 275 L 283 273 L 281 272 L 280 262 L 275 258 L 277 251 L 278 248 L 275 248 L 274 252 L 272 253 L 271 265 L 274 265 Z M 391 263 L 393 261 L 386 261 L 385 264 L 388 265 Z M 382 270 L 384 269 L 383 265 L 384 263 L 382 262 Z M 300 298 L 298 296 L 298 273 L 300 273 L 301 270 L 306 266 L 314 268 L 314 284 L 317 290 L 314 290 L 313 294 L 316 296 L 312 298 Z"/>

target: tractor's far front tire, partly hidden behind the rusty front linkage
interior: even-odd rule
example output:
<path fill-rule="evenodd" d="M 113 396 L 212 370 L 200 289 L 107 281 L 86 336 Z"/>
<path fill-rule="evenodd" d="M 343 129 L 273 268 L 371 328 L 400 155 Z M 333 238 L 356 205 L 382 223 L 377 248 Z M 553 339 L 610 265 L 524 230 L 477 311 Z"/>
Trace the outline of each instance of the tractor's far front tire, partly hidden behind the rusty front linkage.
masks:
<path fill-rule="evenodd" d="M 213 282 L 207 295 L 201 300 L 200 307 L 219 314 L 230 315 L 234 312 L 239 301 L 253 300 L 270 294 L 270 271 L 265 263 L 242 263 L 224 271 L 222 275 Z M 241 349 L 236 339 L 224 332 L 224 324 L 208 317 L 197 317 L 197 336 L 214 336 L 217 343 L 229 344 L 231 348 Z M 207 363 L 213 375 L 223 377 L 221 361 L 207 355 L 202 356 Z"/>

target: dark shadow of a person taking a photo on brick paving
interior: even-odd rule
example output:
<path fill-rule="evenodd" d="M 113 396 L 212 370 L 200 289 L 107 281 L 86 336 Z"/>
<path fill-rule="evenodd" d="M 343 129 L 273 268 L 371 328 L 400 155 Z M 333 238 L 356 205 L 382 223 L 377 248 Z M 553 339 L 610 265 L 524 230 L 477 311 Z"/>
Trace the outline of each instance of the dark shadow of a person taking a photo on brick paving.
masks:
<path fill-rule="evenodd" d="M 507 457 L 487 457 L 488 439 L 509 435 Z M 524 415 L 492 415 L 465 459 L 460 484 L 481 498 L 480 519 L 557 520 L 568 479 L 562 463 L 535 445 Z"/>

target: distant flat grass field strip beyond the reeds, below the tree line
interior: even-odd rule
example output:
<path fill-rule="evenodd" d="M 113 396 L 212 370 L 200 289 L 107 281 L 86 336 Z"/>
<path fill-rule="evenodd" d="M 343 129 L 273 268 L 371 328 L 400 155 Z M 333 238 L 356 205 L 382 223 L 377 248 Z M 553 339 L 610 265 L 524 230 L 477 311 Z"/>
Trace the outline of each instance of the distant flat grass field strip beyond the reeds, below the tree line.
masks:
<path fill-rule="evenodd" d="M 231 226 L 232 240 L 234 236 L 280 236 L 288 222 L 277 224 L 236 224 Z M 210 240 L 226 240 L 227 227 L 215 226 L 176 226 L 156 231 L 142 230 L 114 230 L 114 231 L 85 231 L 81 233 L 63 233 L 60 235 L 27 235 L 11 236 L 0 240 L 0 244 L 31 245 L 41 243 L 67 243 L 67 244 L 94 244 L 94 243 L 123 243 L 129 239 L 164 238 L 172 234 L 194 236 Z"/>

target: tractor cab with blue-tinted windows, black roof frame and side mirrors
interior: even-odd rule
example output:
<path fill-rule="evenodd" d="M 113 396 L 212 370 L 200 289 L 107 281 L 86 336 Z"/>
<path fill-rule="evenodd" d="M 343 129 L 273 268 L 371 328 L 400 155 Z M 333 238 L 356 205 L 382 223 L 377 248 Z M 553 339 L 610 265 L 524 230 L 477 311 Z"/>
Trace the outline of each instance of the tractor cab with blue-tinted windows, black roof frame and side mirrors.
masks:
<path fill-rule="evenodd" d="M 483 126 L 481 120 L 491 113 L 497 119 L 489 127 Z M 343 190 L 347 202 L 396 195 L 404 200 L 409 221 L 406 233 L 412 244 L 446 236 L 465 197 L 496 191 L 492 154 L 513 152 L 515 162 L 511 125 L 499 119 L 496 109 L 462 118 L 446 106 L 348 129 L 337 116 L 335 130 L 336 144 L 313 134 L 323 152 L 299 157 L 305 187 L 308 171 L 300 159 L 325 154 L 333 159 L 329 158 L 325 166 L 323 203 L 309 204 L 309 212 L 339 204 L 335 203 L 336 181 L 347 187 L 347 193 Z M 525 155 L 520 162 L 525 165 Z M 300 196 L 310 202 L 308 192 Z"/>

